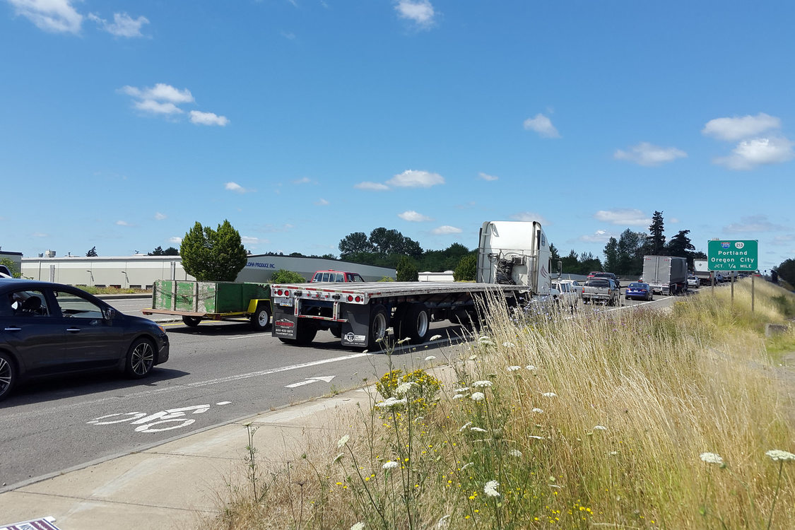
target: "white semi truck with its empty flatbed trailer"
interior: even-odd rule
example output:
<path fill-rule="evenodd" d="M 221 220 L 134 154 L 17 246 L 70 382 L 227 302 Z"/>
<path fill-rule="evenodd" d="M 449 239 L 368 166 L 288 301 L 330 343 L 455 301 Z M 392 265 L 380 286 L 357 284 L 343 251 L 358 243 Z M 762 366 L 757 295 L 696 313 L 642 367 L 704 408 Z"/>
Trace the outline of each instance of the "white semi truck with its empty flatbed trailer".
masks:
<path fill-rule="evenodd" d="M 388 328 L 421 344 L 430 323 L 471 323 L 489 296 L 509 306 L 550 295 L 549 241 L 535 221 L 487 221 L 480 228 L 477 277 L 467 282 L 273 284 L 272 335 L 308 345 L 330 331 L 343 346 L 379 348 Z"/>

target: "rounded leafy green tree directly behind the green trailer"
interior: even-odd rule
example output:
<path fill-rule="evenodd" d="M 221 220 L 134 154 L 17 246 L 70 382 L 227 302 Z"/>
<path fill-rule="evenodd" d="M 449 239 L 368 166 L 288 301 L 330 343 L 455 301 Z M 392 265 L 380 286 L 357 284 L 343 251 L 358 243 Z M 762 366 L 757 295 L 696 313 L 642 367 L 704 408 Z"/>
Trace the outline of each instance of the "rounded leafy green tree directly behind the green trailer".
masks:
<path fill-rule="evenodd" d="M 248 261 L 240 234 L 226 219 L 216 230 L 197 221 L 182 238 L 180 256 L 185 272 L 200 281 L 234 281 Z"/>

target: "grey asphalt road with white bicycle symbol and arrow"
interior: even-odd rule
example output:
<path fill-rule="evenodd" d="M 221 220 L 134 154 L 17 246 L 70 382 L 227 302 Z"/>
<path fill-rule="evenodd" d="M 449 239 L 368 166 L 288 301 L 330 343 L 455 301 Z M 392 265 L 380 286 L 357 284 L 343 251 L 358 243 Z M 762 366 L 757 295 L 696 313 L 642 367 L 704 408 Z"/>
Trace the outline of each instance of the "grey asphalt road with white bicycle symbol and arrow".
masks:
<path fill-rule="evenodd" d="M 140 315 L 149 300 L 109 300 Z M 638 302 L 622 304 L 637 305 Z M 670 300 L 655 296 L 651 304 Z M 648 304 L 648 303 L 647 303 Z M 605 310 L 615 308 L 604 308 Z M 0 405 L 0 491 L 140 451 L 167 439 L 225 424 L 273 408 L 374 381 L 389 369 L 385 354 L 349 350 L 328 331 L 312 347 L 290 346 L 247 323 L 164 323 L 169 362 L 152 376 L 130 381 L 115 374 L 69 377 L 18 387 Z M 460 337 L 450 323 L 433 323 L 432 334 Z M 446 340 L 399 347 L 396 367 L 424 366 L 443 358 Z M 425 347 L 427 346 L 427 348 Z M 241 447 L 242 449 L 242 447 Z"/>

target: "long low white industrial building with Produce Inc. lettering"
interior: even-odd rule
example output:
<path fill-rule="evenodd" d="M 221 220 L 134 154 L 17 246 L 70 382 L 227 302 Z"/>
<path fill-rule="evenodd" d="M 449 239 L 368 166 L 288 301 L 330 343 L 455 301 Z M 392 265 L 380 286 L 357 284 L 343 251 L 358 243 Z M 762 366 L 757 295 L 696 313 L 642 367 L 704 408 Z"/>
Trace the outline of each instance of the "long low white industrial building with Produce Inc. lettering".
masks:
<path fill-rule="evenodd" d="M 129 257 L 55 257 L 48 252 L 43 257 L 22 257 L 22 277 L 55 281 L 60 284 L 94 285 L 96 287 L 149 289 L 154 280 L 195 280 L 182 268 L 179 256 Z M 359 273 L 366 281 L 395 277 L 395 269 L 361 265 L 349 261 L 318 257 L 250 255 L 237 281 L 268 282 L 279 269 L 299 273 L 309 280 L 317 270 L 343 270 Z"/>

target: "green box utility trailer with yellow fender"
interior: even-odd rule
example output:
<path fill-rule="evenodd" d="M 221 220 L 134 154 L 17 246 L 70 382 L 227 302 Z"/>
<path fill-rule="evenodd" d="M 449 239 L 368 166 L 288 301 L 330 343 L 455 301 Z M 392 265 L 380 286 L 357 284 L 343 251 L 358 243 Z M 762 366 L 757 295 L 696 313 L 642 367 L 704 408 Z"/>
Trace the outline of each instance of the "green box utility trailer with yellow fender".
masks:
<path fill-rule="evenodd" d="M 270 323 L 270 284 L 234 281 L 155 280 L 144 315 L 180 315 L 196 327 L 207 320 L 247 319 L 257 331 Z"/>

